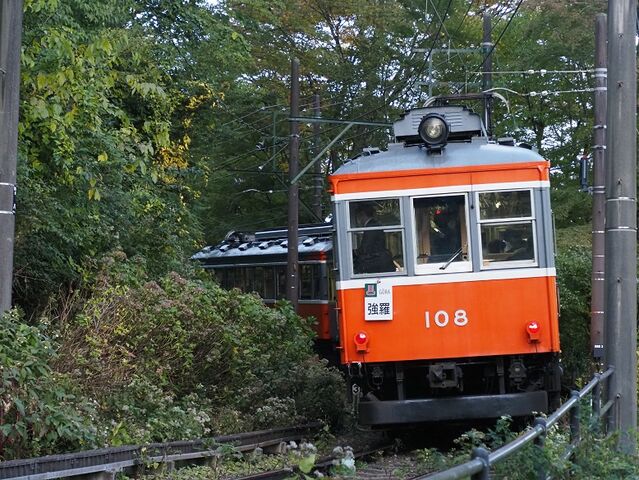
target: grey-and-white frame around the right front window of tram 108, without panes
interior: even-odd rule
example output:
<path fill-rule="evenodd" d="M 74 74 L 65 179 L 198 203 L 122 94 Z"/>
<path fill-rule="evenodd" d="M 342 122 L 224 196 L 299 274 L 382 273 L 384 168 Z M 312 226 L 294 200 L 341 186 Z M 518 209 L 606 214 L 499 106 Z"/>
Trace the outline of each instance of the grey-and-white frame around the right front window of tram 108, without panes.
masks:
<path fill-rule="evenodd" d="M 479 195 L 484 193 L 504 193 L 504 192 L 528 192 L 530 195 L 530 216 L 527 217 L 507 217 L 495 219 L 482 219 Z M 503 188 L 491 190 L 476 190 L 473 201 L 476 205 L 477 239 L 479 240 L 479 269 L 480 270 L 501 270 L 509 268 L 538 267 L 539 252 L 537 245 L 537 212 L 535 208 L 535 190 L 532 188 Z M 531 225 L 533 239 L 533 259 L 532 260 L 502 260 L 492 261 L 484 265 L 484 242 L 482 238 L 482 226 L 484 225 Z"/>

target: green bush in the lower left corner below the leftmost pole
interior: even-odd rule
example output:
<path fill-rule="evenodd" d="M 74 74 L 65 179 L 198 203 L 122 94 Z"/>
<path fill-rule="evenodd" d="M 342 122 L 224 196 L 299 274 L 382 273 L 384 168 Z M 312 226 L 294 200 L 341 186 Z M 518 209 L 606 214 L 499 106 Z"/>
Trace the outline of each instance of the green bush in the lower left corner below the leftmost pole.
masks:
<path fill-rule="evenodd" d="M 51 370 L 52 342 L 15 311 L 1 324 L 0 459 L 95 447 L 95 405 Z"/>

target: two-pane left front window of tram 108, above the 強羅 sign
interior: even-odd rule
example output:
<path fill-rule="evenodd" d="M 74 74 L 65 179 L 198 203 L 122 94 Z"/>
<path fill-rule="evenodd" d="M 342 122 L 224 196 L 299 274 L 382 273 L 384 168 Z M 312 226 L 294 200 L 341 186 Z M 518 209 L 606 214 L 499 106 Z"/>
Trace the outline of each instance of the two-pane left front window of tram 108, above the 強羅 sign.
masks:
<path fill-rule="evenodd" d="M 399 199 L 349 203 L 353 273 L 404 271 L 404 239 Z"/>

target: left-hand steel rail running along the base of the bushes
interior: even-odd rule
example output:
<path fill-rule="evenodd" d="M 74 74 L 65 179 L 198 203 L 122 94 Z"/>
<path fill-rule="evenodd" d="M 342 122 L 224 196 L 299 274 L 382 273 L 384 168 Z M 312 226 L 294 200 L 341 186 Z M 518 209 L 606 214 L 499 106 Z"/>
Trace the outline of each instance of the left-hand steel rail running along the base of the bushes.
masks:
<path fill-rule="evenodd" d="M 217 448 L 224 444 L 232 445 L 240 452 L 278 445 L 281 442 L 297 440 L 320 427 L 319 423 L 312 423 L 293 428 L 222 435 L 211 439 L 103 448 L 10 460 L 0 463 L 0 479 L 49 480 L 79 475 L 114 478 L 117 472 L 149 463 L 174 464 L 180 461 L 213 458 L 219 455 Z"/>

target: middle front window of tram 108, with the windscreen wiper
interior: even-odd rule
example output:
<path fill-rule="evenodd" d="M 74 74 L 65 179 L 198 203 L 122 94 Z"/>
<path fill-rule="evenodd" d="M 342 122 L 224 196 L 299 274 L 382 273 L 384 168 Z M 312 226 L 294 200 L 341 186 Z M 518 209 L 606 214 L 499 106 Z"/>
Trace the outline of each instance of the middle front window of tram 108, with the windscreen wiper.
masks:
<path fill-rule="evenodd" d="M 413 199 L 416 270 L 438 273 L 471 269 L 466 195 Z"/>

